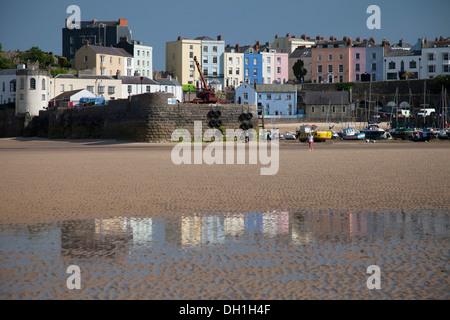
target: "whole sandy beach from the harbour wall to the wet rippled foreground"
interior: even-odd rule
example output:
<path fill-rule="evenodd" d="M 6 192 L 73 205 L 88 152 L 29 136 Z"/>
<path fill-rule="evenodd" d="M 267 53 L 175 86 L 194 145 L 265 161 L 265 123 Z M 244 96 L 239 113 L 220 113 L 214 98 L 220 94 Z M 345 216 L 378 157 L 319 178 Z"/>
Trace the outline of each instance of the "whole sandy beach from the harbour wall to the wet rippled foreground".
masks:
<path fill-rule="evenodd" d="M 260 164 L 174 165 L 173 147 L 1 139 L 0 297 L 449 298 L 448 141 L 327 142 L 313 152 L 282 141 L 272 176 L 260 175 Z M 254 218 L 260 233 L 247 232 L 251 213 L 263 213 Z M 149 217 L 153 242 L 139 242 Z M 98 231 L 114 219 L 133 230 L 132 241 Z M 358 236 L 352 221 L 371 219 L 384 232 Z M 113 243 L 112 256 L 72 243 L 91 225 L 83 241 Z M 82 290 L 65 288 L 70 263 L 84 270 Z M 373 264 L 384 271 L 382 290 L 366 288 Z"/>

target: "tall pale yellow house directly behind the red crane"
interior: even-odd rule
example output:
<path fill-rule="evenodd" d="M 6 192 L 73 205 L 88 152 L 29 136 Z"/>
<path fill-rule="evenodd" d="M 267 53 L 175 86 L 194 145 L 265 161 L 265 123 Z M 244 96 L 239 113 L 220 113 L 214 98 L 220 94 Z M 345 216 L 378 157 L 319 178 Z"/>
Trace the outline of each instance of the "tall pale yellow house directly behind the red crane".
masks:
<path fill-rule="evenodd" d="M 201 62 L 202 41 L 182 39 L 166 42 L 166 71 L 178 77 L 181 84 L 193 84 L 200 80 L 194 57 Z"/>

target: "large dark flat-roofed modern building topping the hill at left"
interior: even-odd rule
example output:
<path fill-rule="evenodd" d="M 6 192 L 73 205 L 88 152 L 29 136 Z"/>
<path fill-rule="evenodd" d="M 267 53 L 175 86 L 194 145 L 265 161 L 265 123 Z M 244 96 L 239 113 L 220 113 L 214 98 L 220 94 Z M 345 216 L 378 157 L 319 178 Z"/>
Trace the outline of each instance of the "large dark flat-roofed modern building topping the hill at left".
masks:
<path fill-rule="evenodd" d="M 62 29 L 62 52 L 69 61 L 73 60 L 75 52 L 83 46 L 85 40 L 92 45 L 110 47 L 119 43 L 121 37 L 131 39 L 126 19 L 81 21 L 80 24 L 80 29 L 69 29 L 67 25 Z"/>

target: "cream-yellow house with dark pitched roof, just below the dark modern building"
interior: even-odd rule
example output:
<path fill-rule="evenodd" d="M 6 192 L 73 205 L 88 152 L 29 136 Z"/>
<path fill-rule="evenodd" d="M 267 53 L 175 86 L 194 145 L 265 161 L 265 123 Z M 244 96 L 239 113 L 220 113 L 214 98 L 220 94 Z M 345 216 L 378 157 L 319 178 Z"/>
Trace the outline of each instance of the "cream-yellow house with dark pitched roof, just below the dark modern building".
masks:
<path fill-rule="evenodd" d="M 134 75 L 133 56 L 121 48 L 85 44 L 75 53 L 76 70 L 93 69 L 95 75 Z"/>

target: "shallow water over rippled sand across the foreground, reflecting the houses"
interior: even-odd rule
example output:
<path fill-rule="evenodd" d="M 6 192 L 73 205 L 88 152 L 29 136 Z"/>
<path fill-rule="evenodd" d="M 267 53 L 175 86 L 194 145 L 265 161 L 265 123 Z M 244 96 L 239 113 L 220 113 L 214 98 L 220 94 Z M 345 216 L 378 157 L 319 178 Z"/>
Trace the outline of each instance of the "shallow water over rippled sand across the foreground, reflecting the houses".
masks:
<path fill-rule="evenodd" d="M 278 210 L 0 225 L 0 298 L 449 298 L 449 222 Z M 381 290 L 367 289 L 369 265 Z"/>

